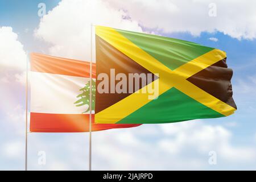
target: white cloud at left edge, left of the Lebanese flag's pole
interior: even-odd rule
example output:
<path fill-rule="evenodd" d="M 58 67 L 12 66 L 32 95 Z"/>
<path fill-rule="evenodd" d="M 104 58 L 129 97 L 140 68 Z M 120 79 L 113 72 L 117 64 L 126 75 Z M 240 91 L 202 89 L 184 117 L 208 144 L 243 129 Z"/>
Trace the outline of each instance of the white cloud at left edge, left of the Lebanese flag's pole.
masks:
<path fill-rule="evenodd" d="M 24 77 L 27 55 L 11 27 L 0 27 L 0 125 L 24 134 Z M 22 85 L 17 84 L 22 83 Z M 14 130 L 13 130 L 14 131 Z"/>

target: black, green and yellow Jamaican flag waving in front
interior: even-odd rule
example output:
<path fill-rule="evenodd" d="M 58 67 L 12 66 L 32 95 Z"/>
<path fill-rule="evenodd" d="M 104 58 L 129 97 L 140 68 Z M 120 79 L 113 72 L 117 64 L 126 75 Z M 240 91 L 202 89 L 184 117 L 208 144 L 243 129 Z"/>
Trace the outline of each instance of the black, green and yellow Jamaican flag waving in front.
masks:
<path fill-rule="evenodd" d="M 218 118 L 237 108 L 220 49 L 96 26 L 96 63 L 96 123 Z"/>

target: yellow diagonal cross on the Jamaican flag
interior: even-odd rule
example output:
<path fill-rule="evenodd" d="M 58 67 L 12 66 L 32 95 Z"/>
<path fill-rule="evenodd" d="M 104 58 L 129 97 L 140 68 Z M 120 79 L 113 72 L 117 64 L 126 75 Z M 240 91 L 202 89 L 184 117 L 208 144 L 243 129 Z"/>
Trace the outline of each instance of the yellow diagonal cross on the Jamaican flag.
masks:
<path fill-rule="evenodd" d="M 143 51 L 143 49 L 139 48 L 129 39 L 125 38 L 125 36 L 119 34 L 119 32 L 115 31 L 113 28 L 96 26 L 96 35 L 100 36 L 126 56 L 142 65 L 142 67 L 146 68 L 151 73 L 158 73 L 159 96 L 172 87 L 175 87 L 194 100 L 225 116 L 233 114 L 236 110 L 234 107 L 222 102 L 221 100 L 218 100 L 218 98 L 212 96 L 186 80 L 188 77 L 195 75 L 197 72 L 200 72 L 210 65 L 224 59 L 226 57 L 226 53 L 224 51 L 221 51 L 220 49 L 213 49 L 212 51 L 196 57 L 196 59 L 193 59 L 172 71 L 170 68 L 166 67 L 166 65 L 162 64 L 147 52 Z M 152 85 L 154 85 L 154 82 L 151 82 L 146 86 Z M 123 100 L 115 103 L 105 110 L 96 113 L 95 122 L 117 123 L 122 118 L 127 117 L 135 110 L 138 110 L 142 106 L 146 105 L 151 101 L 148 99 L 150 93 L 143 93 L 142 89 L 126 98 L 123 98 Z"/>

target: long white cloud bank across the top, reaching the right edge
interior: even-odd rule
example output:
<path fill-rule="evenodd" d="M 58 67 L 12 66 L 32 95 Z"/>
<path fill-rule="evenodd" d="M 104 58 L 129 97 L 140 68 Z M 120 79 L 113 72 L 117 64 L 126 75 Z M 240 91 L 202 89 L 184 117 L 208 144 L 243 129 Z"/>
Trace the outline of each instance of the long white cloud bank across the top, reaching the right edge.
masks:
<path fill-rule="evenodd" d="M 208 15 L 211 2 L 63 0 L 43 16 L 34 35 L 51 45 L 49 54 L 81 60 L 90 60 L 91 23 L 131 31 L 142 31 L 143 26 L 157 34 L 190 32 L 200 35 L 203 31 L 220 31 L 237 39 L 256 37 L 254 1 L 215 1 L 216 17 Z M 246 11 L 240 14 L 234 11 L 237 9 Z"/>

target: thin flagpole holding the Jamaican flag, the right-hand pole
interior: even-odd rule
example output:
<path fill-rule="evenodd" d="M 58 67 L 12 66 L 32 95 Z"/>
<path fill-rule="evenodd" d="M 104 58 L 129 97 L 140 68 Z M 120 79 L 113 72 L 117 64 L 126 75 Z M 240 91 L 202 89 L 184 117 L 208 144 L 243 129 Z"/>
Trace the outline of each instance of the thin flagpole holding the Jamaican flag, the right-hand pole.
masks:
<path fill-rule="evenodd" d="M 90 24 L 90 116 L 89 116 L 89 171 L 92 171 L 92 59 L 93 59 L 93 24 Z"/>

